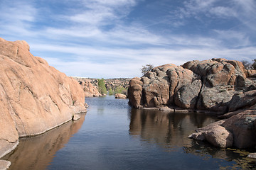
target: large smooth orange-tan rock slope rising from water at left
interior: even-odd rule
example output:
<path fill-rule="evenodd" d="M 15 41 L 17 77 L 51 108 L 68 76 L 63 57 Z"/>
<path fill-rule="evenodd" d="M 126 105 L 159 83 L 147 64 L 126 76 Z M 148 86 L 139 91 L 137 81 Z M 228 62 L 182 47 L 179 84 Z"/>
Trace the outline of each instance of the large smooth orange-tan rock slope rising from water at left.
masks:
<path fill-rule="evenodd" d="M 27 42 L 0 38 L 0 62 L 0 157 L 19 137 L 41 134 L 86 111 L 80 84 L 31 55 Z"/>

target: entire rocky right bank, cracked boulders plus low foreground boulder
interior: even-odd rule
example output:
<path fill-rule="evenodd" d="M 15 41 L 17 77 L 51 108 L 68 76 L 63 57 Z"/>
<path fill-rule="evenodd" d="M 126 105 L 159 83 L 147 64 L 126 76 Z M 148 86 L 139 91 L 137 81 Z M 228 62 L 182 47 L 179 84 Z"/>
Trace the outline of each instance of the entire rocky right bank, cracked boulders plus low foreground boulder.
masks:
<path fill-rule="evenodd" d="M 181 66 L 155 67 L 129 81 L 129 104 L 134 108 L 206 111 L 226 120 L 212 123 L 190 137 L 217 147 L 254 147 L 256 144 L 256 71 L 242 62 L 212 59 Z"/>

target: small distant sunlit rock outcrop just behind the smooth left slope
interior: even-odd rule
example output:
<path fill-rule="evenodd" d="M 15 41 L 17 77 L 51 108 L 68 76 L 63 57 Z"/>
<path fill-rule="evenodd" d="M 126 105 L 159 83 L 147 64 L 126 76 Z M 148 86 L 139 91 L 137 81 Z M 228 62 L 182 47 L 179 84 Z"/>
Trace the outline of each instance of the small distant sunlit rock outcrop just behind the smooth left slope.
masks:
<path fill-rule="evenodd" d="M 98 87 L 95 84 L 92 84 L 92 80 L 85 78 L 74 77 L 78 83 L 82 86 L 84 90 L 85 97 L 99 97 L 102 96 Z"/>

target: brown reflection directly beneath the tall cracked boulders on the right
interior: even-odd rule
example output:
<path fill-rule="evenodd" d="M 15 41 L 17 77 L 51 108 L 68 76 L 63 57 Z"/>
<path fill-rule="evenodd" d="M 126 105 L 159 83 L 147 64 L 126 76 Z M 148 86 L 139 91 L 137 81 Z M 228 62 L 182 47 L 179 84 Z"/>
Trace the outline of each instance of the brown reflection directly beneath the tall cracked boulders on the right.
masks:
<path fill-rule="evenodd" d="M 166 147 L 191 145 L 188 134 L 214 121 L 208 115 L 131 110 L 130 135 Z"/>

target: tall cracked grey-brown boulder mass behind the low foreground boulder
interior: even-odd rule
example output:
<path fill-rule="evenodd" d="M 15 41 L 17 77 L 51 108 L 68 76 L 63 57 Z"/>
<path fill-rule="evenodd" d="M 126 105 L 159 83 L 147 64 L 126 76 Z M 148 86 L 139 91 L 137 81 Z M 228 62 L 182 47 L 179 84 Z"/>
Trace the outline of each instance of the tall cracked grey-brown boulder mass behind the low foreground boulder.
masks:
<path fill-rule="evenodd" d="M 240 108 L 231 101 L 256 89 L 253 76 L 241 62 L 225 59 L 165 64 L 130 81 L 129 103 L 134 108 L 170 106 L 223 114 Z"/>

